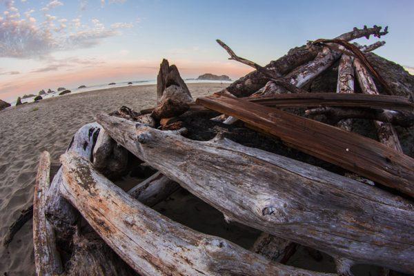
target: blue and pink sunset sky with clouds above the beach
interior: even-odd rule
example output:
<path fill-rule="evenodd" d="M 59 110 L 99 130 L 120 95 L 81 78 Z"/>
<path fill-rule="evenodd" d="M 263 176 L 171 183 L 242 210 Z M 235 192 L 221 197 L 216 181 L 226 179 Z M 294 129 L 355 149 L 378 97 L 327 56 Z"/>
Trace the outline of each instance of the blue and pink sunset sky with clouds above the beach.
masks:
<path fill-rule="evenodd" d="M 413 14 L 411 0 L 0 0 L 0 99 L 156 79 L 163 58 L 184 78 L 237 79 L 252 68 L 229 61 L 215 39 L 264 66 L 308 40 L 375 24 L 389 30 L 375 52 L 414 66 Z"/>

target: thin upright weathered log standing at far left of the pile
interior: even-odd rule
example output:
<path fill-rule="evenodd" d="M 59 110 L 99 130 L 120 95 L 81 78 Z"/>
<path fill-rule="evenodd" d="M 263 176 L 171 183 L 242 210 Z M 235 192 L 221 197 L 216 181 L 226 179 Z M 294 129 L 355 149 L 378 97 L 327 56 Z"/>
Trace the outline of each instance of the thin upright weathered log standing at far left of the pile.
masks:
<path fill-rule="evenodd" d="M 33 199 L 33 247 L 37 275 L 54 276 L 63 272 L 56 248 L 55 230 L 46 219 L 46 193 L 50 186 L 50 155 L 42 152 Z"/>

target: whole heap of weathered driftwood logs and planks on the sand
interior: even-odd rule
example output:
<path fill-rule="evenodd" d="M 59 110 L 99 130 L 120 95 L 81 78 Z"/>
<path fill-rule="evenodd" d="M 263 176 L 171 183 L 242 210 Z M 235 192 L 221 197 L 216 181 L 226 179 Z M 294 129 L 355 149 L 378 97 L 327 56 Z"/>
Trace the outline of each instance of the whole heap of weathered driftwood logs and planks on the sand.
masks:
<path fill-rule="evenodd" d="M 297 244 L 331 255 L 339 275 L 354 264 L 414 273 L 414 152 L 402 146 L 413 143 L 414 81 L 368 53 L 384 42 L 348 42 L 387 32 L 354 28 L 264 67 L 217 41 L 255 71 L 196 100 L 164 59 L 155 108 L 97 115 L 54 177 L 42 153 L 37 274 L 333 275 L 286 266 Z M 127 192 L 114 184 L 144 166 L 157 172 Z M 253 248 L 151 208 L 181 188 L 262 231 Z"/>

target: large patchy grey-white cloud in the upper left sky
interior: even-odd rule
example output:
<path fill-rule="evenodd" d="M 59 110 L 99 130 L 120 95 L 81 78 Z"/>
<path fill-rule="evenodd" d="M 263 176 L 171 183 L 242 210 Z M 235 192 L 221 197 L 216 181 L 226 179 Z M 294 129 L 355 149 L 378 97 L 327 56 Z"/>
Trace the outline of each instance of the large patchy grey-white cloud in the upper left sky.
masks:
<path fill-rule="evenodd" d="M 59 3 L 50 1 L 47 7 L 60 6 Z M 90 48 L 103 39 L 120 34 L 119 30 L 133 26 L 132 23 L 118 22 L 107 28 L 98 19 L 83 24 L 80 18 L 68 21 L 49 13 L 39 21 L 32 17 L 34 10 L 28 10 L 24 13 L 26 19 L 20 19 L 12 1 L 8 5 L 4 17 L 0 17 L 0 57 L 39 58 L 59 50 Z"/>

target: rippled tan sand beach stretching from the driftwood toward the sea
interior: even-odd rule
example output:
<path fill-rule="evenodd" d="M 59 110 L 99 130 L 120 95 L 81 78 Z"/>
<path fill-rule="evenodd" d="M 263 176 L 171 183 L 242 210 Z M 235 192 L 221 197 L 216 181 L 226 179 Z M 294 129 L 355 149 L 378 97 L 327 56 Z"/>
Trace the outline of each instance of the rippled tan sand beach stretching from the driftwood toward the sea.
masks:
<path fill-rule="evenodd" d="M 193 83 L 193 97 L 224 88 L 220 83 Z M 98 112 L 121 106 L 134 110 L 155 106 L 155 86 L 128 86 L 43 99 L 0 111 L 0 274 L 34 275 L 32 222 L 28 222 L 7 249 L 8 227 L 32 204 L 39 154 L 48 150 L 58 161 L 72 135 Z"/>

